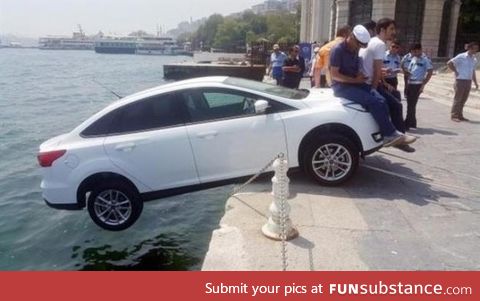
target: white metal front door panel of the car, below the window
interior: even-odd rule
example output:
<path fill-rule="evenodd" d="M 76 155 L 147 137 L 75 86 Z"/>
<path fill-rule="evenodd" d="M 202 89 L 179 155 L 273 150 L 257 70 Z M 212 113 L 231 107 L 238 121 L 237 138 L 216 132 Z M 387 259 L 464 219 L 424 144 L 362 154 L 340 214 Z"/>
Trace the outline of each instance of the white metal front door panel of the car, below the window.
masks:
<path fill-rule="evenodd" d="M 262 114 L 187 127 L 202 183 L 258 172 L 286 153 L 280 114 Z"/>

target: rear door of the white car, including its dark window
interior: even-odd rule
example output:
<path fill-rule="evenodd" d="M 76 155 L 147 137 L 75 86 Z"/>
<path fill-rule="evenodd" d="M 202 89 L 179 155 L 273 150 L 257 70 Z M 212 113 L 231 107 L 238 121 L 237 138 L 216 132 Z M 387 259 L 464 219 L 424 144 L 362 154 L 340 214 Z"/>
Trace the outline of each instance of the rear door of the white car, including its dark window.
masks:
<path fill-rule="evenodd" d="M 185 110 L 176 94 L 136 101 L 115 112 L 104 148 L 111 161 L 152 190 L 198 184 Z"/>

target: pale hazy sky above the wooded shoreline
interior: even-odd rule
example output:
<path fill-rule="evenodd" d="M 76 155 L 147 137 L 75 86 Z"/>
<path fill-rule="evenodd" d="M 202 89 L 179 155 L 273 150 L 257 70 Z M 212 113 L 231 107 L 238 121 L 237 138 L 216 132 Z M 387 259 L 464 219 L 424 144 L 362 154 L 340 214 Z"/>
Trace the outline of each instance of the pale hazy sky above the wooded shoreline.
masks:
<path fill-rule="evenodd" d="M 80 24 L 96 34 L 155 33 L 214 13 L 241 12 L 263 0 L 0 0 L 0 34 L 71 36 Z"/>

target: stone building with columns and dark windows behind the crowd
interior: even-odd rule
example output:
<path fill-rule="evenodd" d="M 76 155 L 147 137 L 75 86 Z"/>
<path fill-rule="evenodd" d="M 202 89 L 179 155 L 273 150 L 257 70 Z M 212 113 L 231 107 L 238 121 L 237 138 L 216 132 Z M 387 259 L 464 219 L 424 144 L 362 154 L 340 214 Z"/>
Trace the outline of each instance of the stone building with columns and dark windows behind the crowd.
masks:
<path fill-rule="evenodd" d="M 388 17 L 403 45 L 421 42 L 430 57 L 452 57 L 461 0 L 302 0 L 300 40 L 331 40 L 338 27 Z"/>

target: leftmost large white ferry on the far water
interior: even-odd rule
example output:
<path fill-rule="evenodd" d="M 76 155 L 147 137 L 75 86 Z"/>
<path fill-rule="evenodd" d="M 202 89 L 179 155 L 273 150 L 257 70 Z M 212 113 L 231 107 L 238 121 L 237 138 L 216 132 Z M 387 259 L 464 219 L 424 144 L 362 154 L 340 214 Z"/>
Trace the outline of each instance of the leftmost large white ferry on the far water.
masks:
<path fill-rule="evenodd" d="M 80 25 L 72 37 L 46 36 L 38 40 L 38 49 L 42 50 L 92 50 L 93 45 L 94 39 L 87 37 Z"/>

